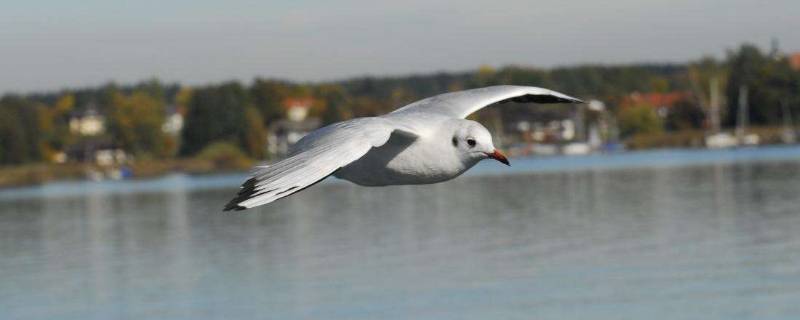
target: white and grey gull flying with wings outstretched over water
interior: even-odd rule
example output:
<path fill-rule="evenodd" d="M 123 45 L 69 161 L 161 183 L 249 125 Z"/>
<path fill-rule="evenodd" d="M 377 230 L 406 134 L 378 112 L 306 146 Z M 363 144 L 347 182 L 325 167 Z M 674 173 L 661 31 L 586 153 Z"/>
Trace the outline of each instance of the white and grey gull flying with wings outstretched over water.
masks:
<path fill-rule="evenodd" d="M 510 165 L 489 130 L 465 119 L 506 102 L 583 103 L 548 89 L 504 85 L 444 93 L 385 115 L 334 123 L 304 136 L 287 158 L 256 166 L 224 210 L 264 205 L 331 175 L 362 186 L 431 184 L 484 159 Z"/>

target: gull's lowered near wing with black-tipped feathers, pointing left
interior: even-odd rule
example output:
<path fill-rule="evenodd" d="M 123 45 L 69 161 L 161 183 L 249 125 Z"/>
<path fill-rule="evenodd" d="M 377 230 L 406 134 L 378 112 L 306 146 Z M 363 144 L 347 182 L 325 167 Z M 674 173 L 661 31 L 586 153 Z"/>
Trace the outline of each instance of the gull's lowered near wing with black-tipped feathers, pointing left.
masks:
<path fill-rule="evenodd" d="M 225 211 L 267 204 L 310 187 L 389 140 L 392 132 L 413 133 L 380 118 L 339 122 L 298 141 L 288 158 L 257 166 Z"/>

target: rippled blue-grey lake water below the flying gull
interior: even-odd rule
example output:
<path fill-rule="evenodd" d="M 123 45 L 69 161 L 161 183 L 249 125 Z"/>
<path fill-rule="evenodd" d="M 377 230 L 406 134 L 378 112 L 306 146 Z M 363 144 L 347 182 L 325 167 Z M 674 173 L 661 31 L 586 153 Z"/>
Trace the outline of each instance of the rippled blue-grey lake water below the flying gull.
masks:
<path fill-rule="evenodd" d="M 800 318 L 800 148 L 512 165 L 233 214 L 243 175 L 3 190 L 0 318 Z"/>

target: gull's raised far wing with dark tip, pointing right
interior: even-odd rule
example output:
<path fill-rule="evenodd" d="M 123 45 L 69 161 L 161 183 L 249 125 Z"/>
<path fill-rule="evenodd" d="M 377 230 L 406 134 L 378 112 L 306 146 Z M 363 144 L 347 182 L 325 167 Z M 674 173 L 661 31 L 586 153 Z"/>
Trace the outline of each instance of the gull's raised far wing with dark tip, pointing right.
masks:
<path fill-rule="evenodd" d="M 538 87 L 493 86 L 440 94 L 414 102 L 392 113 L 431 112 L 456 118 L 466 118 L 471 113 L 488 105 L 509 101 L 522 103 L 583 103 L 580 99 Z"/>

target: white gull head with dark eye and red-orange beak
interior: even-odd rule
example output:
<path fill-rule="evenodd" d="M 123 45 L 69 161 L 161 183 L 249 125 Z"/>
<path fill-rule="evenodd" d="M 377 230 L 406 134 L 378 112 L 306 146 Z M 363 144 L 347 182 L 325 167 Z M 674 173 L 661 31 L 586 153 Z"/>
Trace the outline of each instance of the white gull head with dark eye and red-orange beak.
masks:
<path fill-rule="evenodd" d="M 462 159 L 477 163 L 483 159 L 495 159 L 510 166 L 508 158 L 497 150 L 492 143 L 489 130 L 472 120 L 459 120 L 461 122 L 453 133 L 451 144 L 456 148 Z"/>

